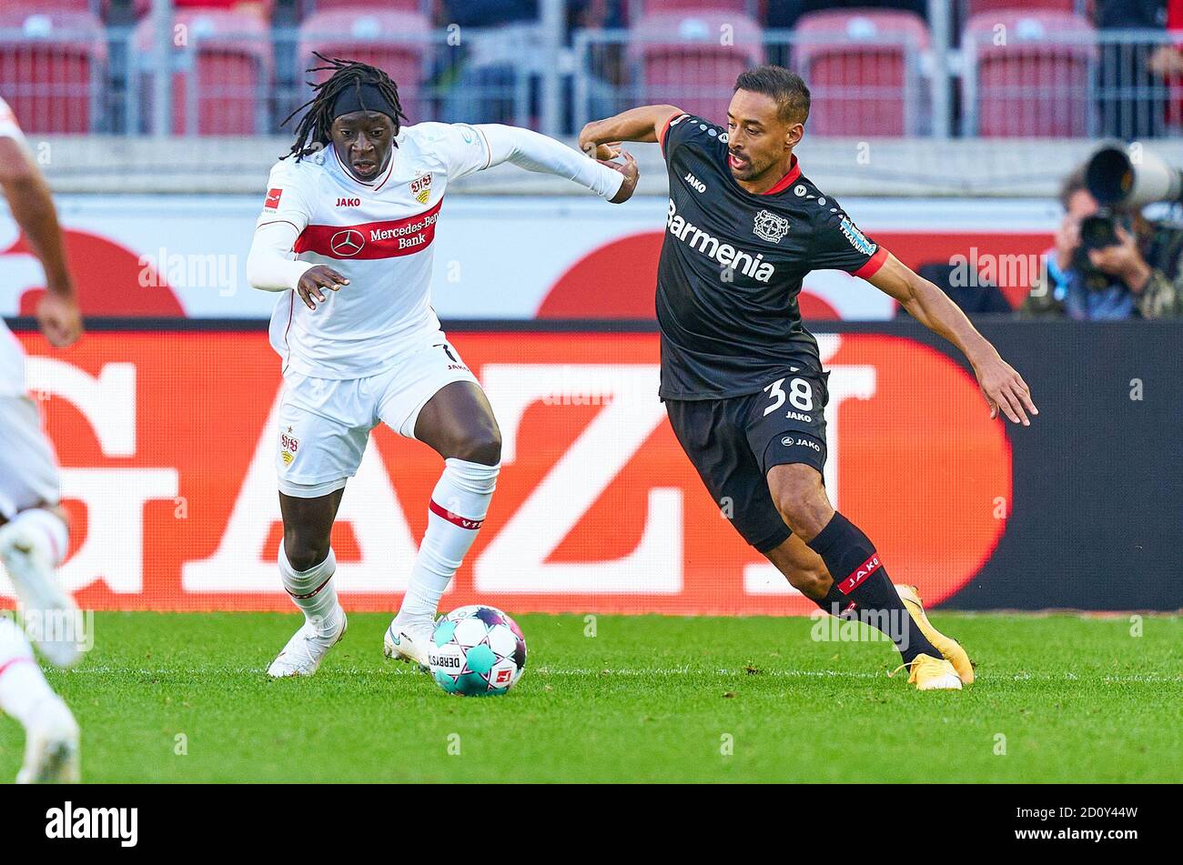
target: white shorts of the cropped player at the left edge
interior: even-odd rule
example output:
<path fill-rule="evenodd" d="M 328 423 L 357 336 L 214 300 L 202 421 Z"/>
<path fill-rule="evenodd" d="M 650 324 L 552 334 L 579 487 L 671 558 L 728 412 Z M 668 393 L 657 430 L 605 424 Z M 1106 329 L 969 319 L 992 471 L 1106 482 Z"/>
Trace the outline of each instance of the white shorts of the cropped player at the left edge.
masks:
<path fill-rule="evenodd" d="M 11 520 L 60 496 L 58 457 L 27 396 L 0 396 L 0 518 Z"/>

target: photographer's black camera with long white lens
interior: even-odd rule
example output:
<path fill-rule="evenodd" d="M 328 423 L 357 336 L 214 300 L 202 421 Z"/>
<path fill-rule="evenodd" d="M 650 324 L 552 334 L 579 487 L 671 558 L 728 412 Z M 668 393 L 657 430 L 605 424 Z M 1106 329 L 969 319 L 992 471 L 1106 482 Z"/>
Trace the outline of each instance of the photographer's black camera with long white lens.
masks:
<path fill-rule="evenodd" d="M 1088 251 L 1120 243 L 1117 228 L 1132 230 L 1127 214 L 1156 201 L 1183 199 L 1183 175 L 1157 154 L 1140 148 L 1137 158 L 1120 144 L 1103 144 L 1085 168 L 1085 186 L 1098 210 L 1080 222 L 1080 246 L 1072 266 L 1091 291 L 1101 291 L 1112 278 L 1093 267 Z"/>

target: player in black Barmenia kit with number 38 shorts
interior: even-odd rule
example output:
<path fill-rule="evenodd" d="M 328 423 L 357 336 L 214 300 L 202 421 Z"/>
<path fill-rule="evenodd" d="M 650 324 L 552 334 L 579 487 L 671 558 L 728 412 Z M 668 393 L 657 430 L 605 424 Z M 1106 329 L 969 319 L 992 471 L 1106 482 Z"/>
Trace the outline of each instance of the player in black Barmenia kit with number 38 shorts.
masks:
<path fill-rule="evenodd" d="M 809 90 L 780 66 L 743 72 L 726 128 L 672 105 L 589 123 L 588 155 L 658 142 L 670 174 L 658 266 L 661 390 L 670 423 L 732 522 L 789 583 L 828 612 L 892 638 L 920 690 L 974 681 L 965 650 L 929 622 L 914 588 L 894 586 L 871 540 L 834 510 L 822 482 L 828 373 L 801 324 L 809 271 L 861 277 L 961 349 L 990 416 L 1029 425 L 1030 390 L 935 285 L 864 235 L 801 174 Z"/>

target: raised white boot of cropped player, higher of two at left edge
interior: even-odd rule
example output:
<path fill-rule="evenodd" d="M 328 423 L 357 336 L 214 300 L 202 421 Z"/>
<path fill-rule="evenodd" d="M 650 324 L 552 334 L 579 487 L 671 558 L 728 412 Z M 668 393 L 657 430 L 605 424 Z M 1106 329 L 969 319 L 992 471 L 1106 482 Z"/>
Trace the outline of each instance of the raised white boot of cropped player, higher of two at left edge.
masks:
<path fill-rule="evenodd" d="M 37 627 L 26 627 L 30 637 L 54 666 L 77 664 L 85 636 L 77 632 L 83 626 L 78 605 L 58 585 L 53 565 L 19 522 L 0 526 L 0 561 L 25 616 L 39 618 Z"/>

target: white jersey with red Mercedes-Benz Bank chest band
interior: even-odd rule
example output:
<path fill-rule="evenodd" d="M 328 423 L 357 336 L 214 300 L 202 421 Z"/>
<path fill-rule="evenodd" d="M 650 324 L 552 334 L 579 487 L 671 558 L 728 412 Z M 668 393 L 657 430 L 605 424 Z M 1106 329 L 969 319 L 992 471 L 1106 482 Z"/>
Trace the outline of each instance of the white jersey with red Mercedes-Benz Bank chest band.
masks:
<path fill-rule="evenodd" d="M 420 123 L 395 138 L 370 182 L 354 177 L 329 144 L 271 169 L 256 227 L 290 222 L 296 258 L 349 279 L 308 308 L 289 290 L 271 316 L 271 344 L 284 369 L 316 378 L 364 378 L 389 369 L 400 346 L 439 330 L 431 306 L 435 222 L 448 182 L 490 164 L 474 126 Z"/>

